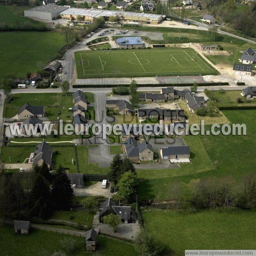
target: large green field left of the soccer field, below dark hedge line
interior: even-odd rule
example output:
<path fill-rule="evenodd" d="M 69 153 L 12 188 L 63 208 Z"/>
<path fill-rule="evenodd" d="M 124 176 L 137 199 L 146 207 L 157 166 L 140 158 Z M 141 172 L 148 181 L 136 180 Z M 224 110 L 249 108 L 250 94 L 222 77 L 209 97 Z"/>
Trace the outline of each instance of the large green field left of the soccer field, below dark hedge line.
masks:
<path fill-rule="evenodd" d="M 0 62 L 0 78 L 6 74 L 24 78 L 27 72 L 44 68 L 65 45 L 65 39 L 59 32 L 1 32 L 0 45 L 4 60 Z"/>

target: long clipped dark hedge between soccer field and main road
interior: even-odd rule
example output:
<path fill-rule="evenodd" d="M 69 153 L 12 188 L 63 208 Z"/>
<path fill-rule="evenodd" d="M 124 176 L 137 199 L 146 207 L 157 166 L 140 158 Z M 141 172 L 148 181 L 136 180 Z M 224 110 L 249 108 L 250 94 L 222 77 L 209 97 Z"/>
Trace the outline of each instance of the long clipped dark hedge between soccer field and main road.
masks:
<path fill-rule="evenodd" d="M 73 84 L 73 88 L 108 88 L 108 87 L 117 87 L 124 86 L 128 87 L 130 84 Z M 193 86 L 192 83 L 184 84 L 138 84 L 139 87 L 159 87 L 159 86 Z M 210 82 L 210 83 L 198 83 L 198 86 L 223 86 L 229 85 L 228 82 Z"/>

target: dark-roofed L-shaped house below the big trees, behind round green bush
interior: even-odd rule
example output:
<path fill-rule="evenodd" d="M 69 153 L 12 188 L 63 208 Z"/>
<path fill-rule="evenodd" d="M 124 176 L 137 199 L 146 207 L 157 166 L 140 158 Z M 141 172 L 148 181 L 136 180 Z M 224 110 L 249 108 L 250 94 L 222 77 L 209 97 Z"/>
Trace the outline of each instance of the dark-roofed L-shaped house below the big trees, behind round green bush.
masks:
<path fill-rule="evenodd" d="M 130 206 L 117 206 L 116 203 L 108 198 L 102 202 L 99 208 L 99 218 L 102 218 L 109 214 L 119 215 L 121 221 L 124 223 L 130 223 L 132 221 L 131 207 Z"/>

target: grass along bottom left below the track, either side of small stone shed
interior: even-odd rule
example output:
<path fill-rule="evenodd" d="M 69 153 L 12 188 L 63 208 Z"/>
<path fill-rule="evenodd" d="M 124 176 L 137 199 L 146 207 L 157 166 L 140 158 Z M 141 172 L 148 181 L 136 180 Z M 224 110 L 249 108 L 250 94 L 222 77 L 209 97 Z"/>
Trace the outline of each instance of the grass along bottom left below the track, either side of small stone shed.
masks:
<path fill-rule="evenodd" d="M 60 240 L 70 236 L 50 233 L 43 230 L 32 229 L 29 236 L 19 236 L 14 233 L 13 227 L 1 226 L 0 247 L 3 255 L 42 256 L 51 255 L 54 251 L 62 249 Z M 67 256 L 91 256 L 91 252 L 84 250 L 84 237 L 72 236 L 76 241 L 76 248 L 72 253 L 65 252 Z M 97 253 L 104 256 L 136 256 L 132 244 L 105 236 L 97 236 Z"/>

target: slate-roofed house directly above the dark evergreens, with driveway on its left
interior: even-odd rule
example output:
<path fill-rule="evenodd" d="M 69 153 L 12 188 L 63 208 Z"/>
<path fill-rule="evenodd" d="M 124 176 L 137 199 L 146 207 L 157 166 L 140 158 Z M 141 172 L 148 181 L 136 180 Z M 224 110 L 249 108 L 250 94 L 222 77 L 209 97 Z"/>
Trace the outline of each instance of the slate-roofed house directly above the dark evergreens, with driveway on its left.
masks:
<path fill-rule="evenodd" d="M 53 169 L 54 163 L 52 161 L 52 147 L 45 141 L 41 142 L 35 147 L 35 152 L 32 158 L 32 166 L 35 164 L 41 166 L 44 162 L 47 163 L 49 169 Z"/>

